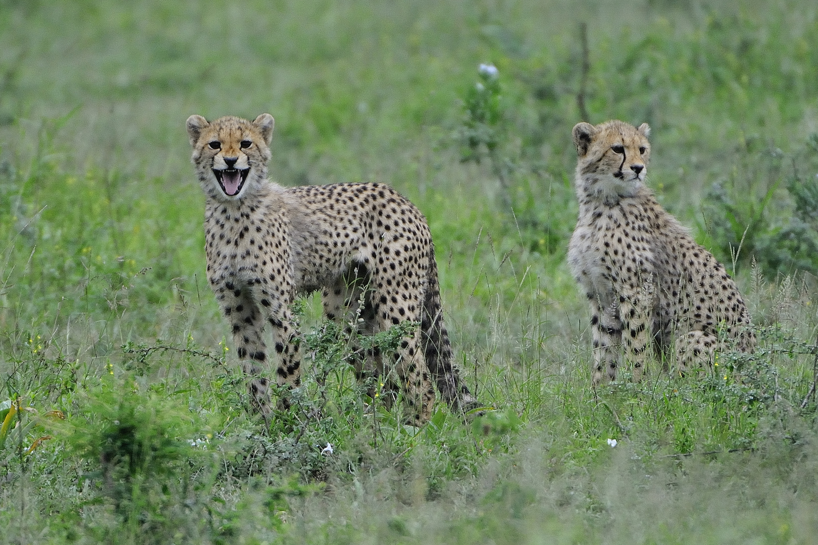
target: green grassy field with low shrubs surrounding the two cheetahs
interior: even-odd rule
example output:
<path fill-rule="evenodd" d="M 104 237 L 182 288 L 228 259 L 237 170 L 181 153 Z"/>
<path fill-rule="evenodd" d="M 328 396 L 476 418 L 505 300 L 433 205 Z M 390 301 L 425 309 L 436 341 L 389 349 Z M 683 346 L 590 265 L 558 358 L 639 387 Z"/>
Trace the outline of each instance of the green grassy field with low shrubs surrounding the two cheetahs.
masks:
<path fill-rule="evenodd" d="M 262 112 L 276 181 L 425 213 L 496 409 L 402 425 L 308 297 L 296 409 L 248 416 L 184 123 Z M 757 354 L 591 391 L 586 115 L 650 123 Z M 0 543 L 816 543 L 816 173 L 807 0 L 0 0 Z"/>

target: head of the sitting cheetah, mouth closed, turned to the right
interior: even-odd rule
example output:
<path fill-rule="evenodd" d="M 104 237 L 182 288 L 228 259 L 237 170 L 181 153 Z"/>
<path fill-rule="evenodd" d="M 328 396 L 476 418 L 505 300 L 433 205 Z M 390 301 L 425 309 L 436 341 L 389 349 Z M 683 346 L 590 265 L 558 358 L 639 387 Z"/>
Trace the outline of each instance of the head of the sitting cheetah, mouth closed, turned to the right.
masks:
<path fill-rule="evenodd" d="M 577 181 L 580 194 L 618 202 L 645 185 L 650 159 L 650 127 L 638 128 L 622 121 L 599 125 L 577 123 L 573 144 L 577 146 Z"/>

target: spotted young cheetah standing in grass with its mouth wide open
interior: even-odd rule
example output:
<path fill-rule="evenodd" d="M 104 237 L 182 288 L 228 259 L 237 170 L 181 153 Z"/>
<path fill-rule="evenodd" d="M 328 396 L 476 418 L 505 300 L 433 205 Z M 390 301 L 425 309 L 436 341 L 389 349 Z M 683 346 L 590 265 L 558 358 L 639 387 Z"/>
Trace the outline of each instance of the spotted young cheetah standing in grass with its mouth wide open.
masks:
<path fill-rule="evenodd" d="M 252 122 L 187 119 L 192 161 L 206 194 L 207 278 L 231 323 L 254 409 L 268 421 L 269 381 L 260 376 L 267 360 L 265 325 L 272 324 L 281 357 L 276 382 L 298 386 L 299 333 L 290 303 L 296 294 L 317 289 L 330 319 L 359 312 L 362 333 L 420 322 L 420 330 L 402 342 L 395 367 L 412 423 L 431 416 L 433 379 L 453 409 L 473 408 L 476 400 L 452 366 L 423 214 L 387 185 L 285 189 L 268 181 L 273 124 L 270 114 Z M 359 301 L 363 308 L 357 308 Z M 384 373 L 380 354 L 369 360 L 367 370 Z M 360 377 L 364 364 L 355 364 Z M 393 382 L 385 374 L 389 388 Z"/>

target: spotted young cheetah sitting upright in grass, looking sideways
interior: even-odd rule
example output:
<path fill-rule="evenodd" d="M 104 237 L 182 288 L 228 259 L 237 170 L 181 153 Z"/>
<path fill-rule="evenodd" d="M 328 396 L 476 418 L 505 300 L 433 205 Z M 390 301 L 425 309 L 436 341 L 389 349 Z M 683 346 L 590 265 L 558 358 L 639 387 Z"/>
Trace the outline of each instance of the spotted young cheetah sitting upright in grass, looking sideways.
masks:
<path fill-rule="evenodd" d="M 573 127 L 579 218 L 568 261 L 591 302 L 595 386 L 605 368 L 616 377 L 619 345 L 635 381 L 651 339 L 661 356 L 675 337 L 681 371 L 697 360 L 712 364 L 726 339 L 739 351 L 755 346 L 747 306 L 724 266 L 645 186 L 649 132 L 647 123 L 621 121 Z"/>

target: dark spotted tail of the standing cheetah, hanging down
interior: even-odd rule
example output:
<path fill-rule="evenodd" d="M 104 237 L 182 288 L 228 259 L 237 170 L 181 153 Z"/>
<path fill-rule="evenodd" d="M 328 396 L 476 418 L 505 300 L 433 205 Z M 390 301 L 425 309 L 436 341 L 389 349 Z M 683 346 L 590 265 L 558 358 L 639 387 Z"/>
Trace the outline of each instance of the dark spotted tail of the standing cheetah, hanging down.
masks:
<path fill-rule="evenodd" d="M 443 324 L 443 306 L 440 302 L 434 245 L 429 249 L 429 269 L 423 314 L 420 319 L 420 334 L 426 365 L 443 400 L 456 411 L 469 411 L 480 407 L 478 400 L 471 395 L 469 387 L 461 379 L 459 370 L 452 364 L 452 343 L 449 342 L 449 334 Z"/>

